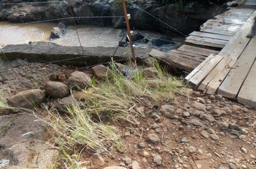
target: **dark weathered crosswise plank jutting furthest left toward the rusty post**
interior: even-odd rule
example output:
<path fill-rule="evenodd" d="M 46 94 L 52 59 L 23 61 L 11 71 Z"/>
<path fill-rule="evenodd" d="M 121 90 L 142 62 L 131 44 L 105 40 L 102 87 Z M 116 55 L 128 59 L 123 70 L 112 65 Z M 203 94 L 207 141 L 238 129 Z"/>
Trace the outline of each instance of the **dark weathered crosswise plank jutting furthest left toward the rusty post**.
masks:
<path fill-rule="evenodd" d="M 154 56 L 155 58 L 159 59 L 162 62 L 165 62 L 171 67 L 183 69 L 189 72 L 191 72 L 193 69 L 195 69 L 198 66 L 198 64 L 201 63 L 201 60 L 199 59 L 185 57 L 183 55 L 170 53 L 170 52 L 169 53 L 160 52 L 155 49 L 153 49 L 150 52 L 150 56 Z"/>

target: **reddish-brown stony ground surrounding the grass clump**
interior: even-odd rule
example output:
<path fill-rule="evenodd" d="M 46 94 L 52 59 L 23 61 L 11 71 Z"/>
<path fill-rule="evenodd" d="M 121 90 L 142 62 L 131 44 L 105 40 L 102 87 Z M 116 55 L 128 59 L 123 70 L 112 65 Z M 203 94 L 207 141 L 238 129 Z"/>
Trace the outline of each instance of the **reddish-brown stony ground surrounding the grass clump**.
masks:
<path fill-rule="evenodd" d="M 45 84 L 49 81 L 61 82 L 65 86 L 70 85 L 70 82 L 74 84 L 76 74 L 80 76 L 81 72 L 86 74 L 82 74 L 84 79 L 93 76 L 86 69 L 71 74 L 78 68 L 71 65 L 67 67 L 16 60 L 4 66 L 16 67 L 19 77 L 12 69 L 1 72 L 2 99 L 8 102 L 24 90 L 47 92 Z M 33 80 L 29 80 L 31 78 Z M 29 81 L 20 84 L 19 80 Z M 76 85 L 80 85 L 76 82 Z M 88 81 L 83 82 L 86 83 Z M 65 87 L 62 91 L 65 91 Z M 60 92 L 61 97 L 65 99 L 69 92 Z M 86 163 L 81 166 L 105 169 L 256 168 L 255 110 L 221 95 L 204 95 L 191 89 L 187 92 L 189 97 L 176 96 L 175 101 L 165 100 L 163 105 L 146 101 L 136 105 L 146 116 L 138 117 L 140 124 L 137 126 L 119 125 L 124 140 L 123 148 L 109 148 L 107 153 L 84 150 L 80 161 Z M 43 103 L 52 107 L 60 100 L 65 101 L 55 97 L 48 92 Z M 47 127 L 40 120 L 47 119 L 47 113 L 40 103 L 37 104 L 35 115 L 32 114 L 33 109 L 26 106 L 1 111 L 0 168 L 50 168 L 55 163 L 55 157 L 62 156 L 53 147 Z M 73 152 L 68 153 L 73 157 Z M 65 168 L 64 163 L 58 166 Z"/>

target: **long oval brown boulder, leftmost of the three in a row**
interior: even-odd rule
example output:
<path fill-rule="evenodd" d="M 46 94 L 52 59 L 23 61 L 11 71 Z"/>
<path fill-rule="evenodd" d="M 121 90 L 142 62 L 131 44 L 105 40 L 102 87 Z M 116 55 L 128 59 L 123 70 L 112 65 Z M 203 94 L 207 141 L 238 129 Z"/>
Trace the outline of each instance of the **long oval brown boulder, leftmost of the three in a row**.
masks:
<path fill-rule="evenodd" d="M 45 91 L 43 90 L 26 90 L 10 97 L 7 103 L 13 107 L 30 107 L 39 105 L 44 98 Z"/>

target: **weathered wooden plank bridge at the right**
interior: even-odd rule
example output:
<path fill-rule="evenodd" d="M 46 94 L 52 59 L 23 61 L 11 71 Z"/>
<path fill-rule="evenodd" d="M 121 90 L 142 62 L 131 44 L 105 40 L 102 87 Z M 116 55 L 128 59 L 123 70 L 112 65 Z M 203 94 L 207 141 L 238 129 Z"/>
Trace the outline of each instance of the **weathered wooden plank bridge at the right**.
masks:
<path fill-rule="evenodd" d="M 186 44 L 168 53 L 152 50 L 170 66 L 189 72 L 184 82 L 209 95 L 219 94 L 256 107 L 256 36 L 250 33 L 256 1 L 242 1 L 192 32 Z"/>

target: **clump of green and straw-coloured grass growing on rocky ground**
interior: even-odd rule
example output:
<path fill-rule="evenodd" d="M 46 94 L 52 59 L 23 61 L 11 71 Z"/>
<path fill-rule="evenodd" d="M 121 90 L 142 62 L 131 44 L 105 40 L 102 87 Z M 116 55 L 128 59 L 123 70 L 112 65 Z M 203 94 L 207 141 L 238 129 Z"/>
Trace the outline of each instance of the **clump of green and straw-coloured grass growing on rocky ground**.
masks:
<path fill-rule="evenodd" d="M 140 69 L 133 67 L 129 77 L 124 76 L 118 64 L 111 64 L 111 75 L 102 80 L 91 80 L 91 90 L 83 90 L 88 100 L 68 108 L 69 115 L 60 115 L 48 110 L 52 117 L 48 123 L 55 130 L 55 141 L 63 150 L 73 150 L 83 145 L 96 152 L 111 148 L 124 148 L 119 122 L 128 126 L 140 125 L 138 119 L 147 112 L 133 110 L 134 107 L 155 102 L 160 104 L 176 95 L 187 95 L 186 87 L 178 79 L 155 64 L 156 77 L 147 78 Z"/>

